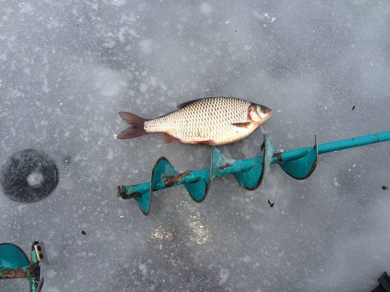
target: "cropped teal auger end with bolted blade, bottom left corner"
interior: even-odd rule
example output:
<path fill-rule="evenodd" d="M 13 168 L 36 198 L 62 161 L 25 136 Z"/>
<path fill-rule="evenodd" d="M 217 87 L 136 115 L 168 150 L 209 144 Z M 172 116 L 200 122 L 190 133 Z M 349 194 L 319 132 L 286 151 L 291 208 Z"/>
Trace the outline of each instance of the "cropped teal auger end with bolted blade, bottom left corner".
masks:
<path fill-rule="evenodd" d="M 26 278 L 30 292 L 40 292 L 44 279 L 40 277 L 39 262 L 49 264 L 43 242 L 33 242 L 30 261 L 19 246 L 13 243 L 0 244 L 0 279 Z"/>

